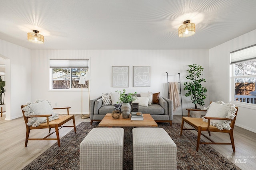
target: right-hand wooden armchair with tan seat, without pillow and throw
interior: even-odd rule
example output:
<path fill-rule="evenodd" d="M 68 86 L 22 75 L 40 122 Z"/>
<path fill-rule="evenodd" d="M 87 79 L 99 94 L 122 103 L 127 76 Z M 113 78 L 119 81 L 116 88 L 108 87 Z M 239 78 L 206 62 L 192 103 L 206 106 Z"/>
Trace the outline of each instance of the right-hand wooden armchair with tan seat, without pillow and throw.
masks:
<path fill-rule="evenodd" d="M 238 107 L 236 107 L 236 113 L 237 115 Z M 196 144 L 196 151 L 199 149 L 200 144 L 215 144 L 215 145 L 232 145 L 233 152 L 236 152 L 235 150 L 235 144 L 234 144 L 234 136 L 233 136 L 233 130 L 236 122 L 236 117 L 234 119 L 228 119 L 228 118 L 220 118 L 220 117 L 204 117 L 205 119 L 208 119 L 208 122 L 204 122 L 202 118 L 194 118 L 194 117 L 182 117 L 182 123 L 181 123 L 181 129 L 180 129 L 180 135 L 182 135 L 182 130 L 196 130 L 198 131 L 197 134 L 197 144 Z M 220 130 L 215 126 L 210 125 L 210 120 L 230 120 L 230 130 L 223 129 Z M 188 123 L 190 126 L 194 127 L 194 129 L 183 129 L 184 122 Z M 208 131 L 209 136 L 211 136 L 210 132 L 220 132 L 220 133 L 228 133 L 230 136 L 231 143 L 217 143 L 214 142 L 212 139 L 210 139 L 208 136 L 201 133 L 202 131 Z M 200 137 L 203 135 L 211 142 L 200 142 Z"/>

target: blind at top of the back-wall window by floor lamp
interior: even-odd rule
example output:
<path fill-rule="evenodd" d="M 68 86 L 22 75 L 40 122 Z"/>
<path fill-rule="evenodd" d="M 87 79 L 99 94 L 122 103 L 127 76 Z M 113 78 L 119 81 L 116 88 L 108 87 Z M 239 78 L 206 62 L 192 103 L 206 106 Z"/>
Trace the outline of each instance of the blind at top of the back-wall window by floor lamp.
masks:
<path fill-rule="evenodd" d="M 50 68 L 88 68 L 89 59 L 50 59 Z"/>

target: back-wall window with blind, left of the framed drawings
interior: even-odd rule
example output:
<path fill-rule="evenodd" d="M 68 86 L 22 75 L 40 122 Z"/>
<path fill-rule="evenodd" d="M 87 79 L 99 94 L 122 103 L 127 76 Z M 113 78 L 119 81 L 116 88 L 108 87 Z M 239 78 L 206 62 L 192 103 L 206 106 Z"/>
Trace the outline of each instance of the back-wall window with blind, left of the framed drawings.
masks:
<path fill-rule="evenodd" d="M 78 84 L 80 77 L 88 72 L 88 59 L 50 59 L 50 89 L 88 88 Z"/>

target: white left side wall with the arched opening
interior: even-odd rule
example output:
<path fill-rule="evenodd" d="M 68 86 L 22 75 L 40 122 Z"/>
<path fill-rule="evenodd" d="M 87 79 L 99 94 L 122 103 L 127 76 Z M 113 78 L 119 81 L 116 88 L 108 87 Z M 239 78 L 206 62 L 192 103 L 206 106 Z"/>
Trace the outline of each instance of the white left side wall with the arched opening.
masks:
<path fill-rule="evenodd" d="M 30 101 L 30 49 L 0 39 L 0 57 L 6 61 L 6 120 L 22 116 L 20 106 Z"/>

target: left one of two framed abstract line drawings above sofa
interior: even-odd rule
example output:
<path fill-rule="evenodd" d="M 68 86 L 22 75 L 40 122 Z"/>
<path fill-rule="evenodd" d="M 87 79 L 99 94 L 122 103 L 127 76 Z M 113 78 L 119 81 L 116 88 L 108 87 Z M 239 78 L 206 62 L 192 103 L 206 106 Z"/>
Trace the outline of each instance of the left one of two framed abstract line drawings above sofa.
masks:
<path fill-rule="evenodd" d="M 129 87 L 129 66 L 112 66 L 112 87 Z"/>

